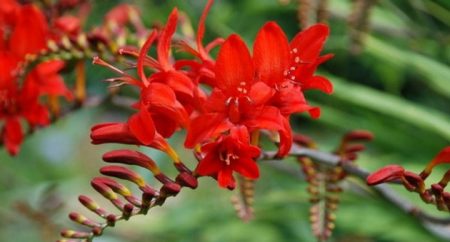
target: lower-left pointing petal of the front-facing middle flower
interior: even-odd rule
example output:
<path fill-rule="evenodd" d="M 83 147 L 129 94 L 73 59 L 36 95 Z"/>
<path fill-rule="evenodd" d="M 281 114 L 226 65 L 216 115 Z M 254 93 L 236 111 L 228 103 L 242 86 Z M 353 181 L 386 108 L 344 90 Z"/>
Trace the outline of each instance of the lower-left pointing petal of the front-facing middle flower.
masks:
<path fill-rule="evenodd" d="M 232 124 L 221 113 L 208 113 L 198 116 L 191 121 L 184 146 L 193 148 L 196 144 L 229 130 L 231 126 Z"/>

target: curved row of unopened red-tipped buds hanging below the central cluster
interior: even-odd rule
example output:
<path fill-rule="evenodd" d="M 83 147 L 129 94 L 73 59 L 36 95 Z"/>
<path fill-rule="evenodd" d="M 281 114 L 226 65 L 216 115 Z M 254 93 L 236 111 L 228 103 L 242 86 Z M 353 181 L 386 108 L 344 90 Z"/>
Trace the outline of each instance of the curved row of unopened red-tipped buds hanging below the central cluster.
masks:
<path fill-rule="evenodd" d="M 64 230 L 61 232 L 61 236 L 66 239 L 61 239 L 58 242 L 78 241 L 73 239 L 91 241 L 94 237 L 100 236 L 107 227 L 113 227 L 116 222 L 128 220 L 136 215 L 147 214 L 150 208 L 163 205 L 168 197 L 176 196 L 183 186 L 190 188 L 196 188 L 197 186 L 197 178 L 192 175 L 193 172 L 189 168 L 184 166 L 183 171 L 177 175 L 177 179 L 174 181 L 165 175 L 150 157 L 138 151 L 113 150 L 105 153 L 103 160 L 108 163 L 136 165 L 145 168 L 152 172 L 155 179 L 162 186 L 159 189 L 153 188 L 141 175 L 126 167 L 115 165 L 102 167 L 100 173 L 108 177 L 96 177 L 92 179 L 91 185 L 98 193 L 110 201 L 120 213 L 110 213 L 91 198 L 81 195 L 79 197 L 80 203 L 98 215 L 102 222 L 91 220 L 80 213 L 72 212 L 69 214 L 70 220 L 88 227 L 90 231 Z M 109 177 L 134 183 L 141 190 L 141 197 L 137 197 L 127 186 Z"/>

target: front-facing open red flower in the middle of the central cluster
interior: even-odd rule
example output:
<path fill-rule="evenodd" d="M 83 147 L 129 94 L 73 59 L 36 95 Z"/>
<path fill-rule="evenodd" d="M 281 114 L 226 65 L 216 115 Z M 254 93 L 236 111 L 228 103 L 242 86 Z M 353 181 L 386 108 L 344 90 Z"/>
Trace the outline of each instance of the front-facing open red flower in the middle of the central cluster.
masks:
<path fill-rule="evenodd" d="M 231 35 L 220 48 L 216 61 L 216 86 L 205 103 L 205 113 L 191 121 L 185 146 L 188 148 L 226 132 L 234 125 L 256 129 L 282 130 L 279 110 L 266 106 L 273 90 L 254 79 L 254 68 L 247 46 L 238 35 Z"/>

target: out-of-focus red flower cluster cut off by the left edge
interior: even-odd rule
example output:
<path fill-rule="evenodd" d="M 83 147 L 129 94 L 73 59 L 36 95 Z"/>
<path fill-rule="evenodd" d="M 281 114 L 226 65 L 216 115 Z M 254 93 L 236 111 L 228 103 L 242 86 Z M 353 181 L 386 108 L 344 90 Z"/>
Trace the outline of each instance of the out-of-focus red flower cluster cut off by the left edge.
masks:
<path fill-rule="evenodd" d="M 0 5 L 0 139 L 12 155 L 23 141 L 22 119 L 30 129 L 49 123 L 43 96 L 71 98 L 58 74 L 64 67 L 62 61 L 41 62 L 23 77 L 27 58 L 45 50 L 47 41 L 58 36 L 55 30 L 65 30 L 57 26 L 50 30 L 39 8 L 19 2 L 5 0 Z"/>

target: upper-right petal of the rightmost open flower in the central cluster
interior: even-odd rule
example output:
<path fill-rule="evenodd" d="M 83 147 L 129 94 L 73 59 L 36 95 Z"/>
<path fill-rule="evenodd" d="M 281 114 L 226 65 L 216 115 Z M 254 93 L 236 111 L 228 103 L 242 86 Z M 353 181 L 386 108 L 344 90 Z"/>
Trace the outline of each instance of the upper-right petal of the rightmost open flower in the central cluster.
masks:
<path fill-rule="evenodd" d="M 315 24 L 298 33 L 291 41 L 291 49 L 296 48 L 303 62 L 313 62 L 320 54 L 330 30 L 324 24 Z"/>

